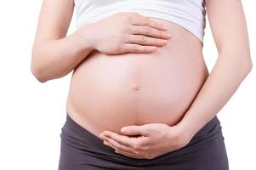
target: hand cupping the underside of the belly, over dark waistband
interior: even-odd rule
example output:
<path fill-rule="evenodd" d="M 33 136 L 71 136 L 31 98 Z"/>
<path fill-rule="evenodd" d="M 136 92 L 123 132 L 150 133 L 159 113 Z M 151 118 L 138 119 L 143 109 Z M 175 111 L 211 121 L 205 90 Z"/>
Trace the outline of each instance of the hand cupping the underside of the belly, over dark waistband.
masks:
<path fill-rule="evenodd" d="M 123 135 L 106 130 L 100 133 L 100 138 L 115 152 L 139 159 L 153 159 L 178 150 L 190 141 L 178 126 L 171 127 L 163 123 L 122 127 L 121 133 Z"/>

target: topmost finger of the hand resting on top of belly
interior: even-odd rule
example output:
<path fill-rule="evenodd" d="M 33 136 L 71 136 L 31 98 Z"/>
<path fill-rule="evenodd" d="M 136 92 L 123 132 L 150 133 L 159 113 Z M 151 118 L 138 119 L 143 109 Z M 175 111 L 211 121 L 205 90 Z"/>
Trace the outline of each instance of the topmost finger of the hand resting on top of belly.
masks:
<path fill-rule="evenodd" d="M 134 26 L 151 26 L 153 28 L 159 29 L 159 30 L 167 30 L 167 27 L 163 26 L 161 23 L 158 23 L 154 20 L 151 20 L 150 17 L 141 15 L 141 14 L 136 14 L 136 17 L 132 17 L 131 23 Z"/>

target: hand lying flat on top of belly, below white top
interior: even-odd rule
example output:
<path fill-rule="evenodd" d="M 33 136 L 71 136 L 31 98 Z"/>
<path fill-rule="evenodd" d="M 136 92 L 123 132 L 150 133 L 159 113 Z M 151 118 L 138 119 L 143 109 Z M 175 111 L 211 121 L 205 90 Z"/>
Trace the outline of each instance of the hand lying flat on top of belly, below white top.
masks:
<path fill-rule="evenodd" d="M 103 54 L 151 53 L 171 37 L 161 24 L 137 13 L 113 14 L 92 23 L 83 33 Z"/>

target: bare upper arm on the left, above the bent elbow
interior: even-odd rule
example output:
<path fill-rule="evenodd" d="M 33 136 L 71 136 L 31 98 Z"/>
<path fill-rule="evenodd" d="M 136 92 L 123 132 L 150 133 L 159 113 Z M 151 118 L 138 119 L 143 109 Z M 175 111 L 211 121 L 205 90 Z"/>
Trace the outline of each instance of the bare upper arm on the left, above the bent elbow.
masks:
<path fill-rule="evenodd" d="M 35 42 L 65 37 L 73 9 L 73 0 L 43 0 Z"/>

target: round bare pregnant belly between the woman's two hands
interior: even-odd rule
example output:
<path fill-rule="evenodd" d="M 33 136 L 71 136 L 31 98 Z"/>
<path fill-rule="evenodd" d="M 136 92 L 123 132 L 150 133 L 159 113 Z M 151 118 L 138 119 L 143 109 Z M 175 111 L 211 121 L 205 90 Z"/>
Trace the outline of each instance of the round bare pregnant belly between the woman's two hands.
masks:
<path fill-rule="evenodd" d="M 73 71 L 66 110 L 91 133 L 151 122 L 173 126 L 208 77 L 201 42 L 172 22 L 152 20 L 173 34 L 167 45 L 151 54 L 93 51 Z"/>

